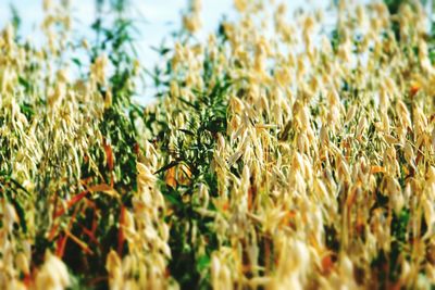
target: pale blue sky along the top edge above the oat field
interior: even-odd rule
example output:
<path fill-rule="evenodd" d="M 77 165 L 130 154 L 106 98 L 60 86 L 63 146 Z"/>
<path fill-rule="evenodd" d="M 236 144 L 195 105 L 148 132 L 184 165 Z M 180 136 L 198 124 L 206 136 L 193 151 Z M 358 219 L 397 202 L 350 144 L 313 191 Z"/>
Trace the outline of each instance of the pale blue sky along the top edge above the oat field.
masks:
<path fill-rule="evenodd" d="M 54 0 L 55 1 L 55 0 Z M 141 20 L 139 28 L 141 35 L 138 39 L 138 47 L 141 54 L 153 53 L 150 46 L 160 43 L 164 36 L 179 25 L 179 15 L 188 1 L 187 0 L 130 0 L 134 13 Z M 94 0 L 71 0 L 73 7 L 74 27 L 86 29 L 94 18 Z M 297 7 L 326 7 L 330 0 L 288 0 L 290 8 Z M 11 18 L 9 5 L 13 3 L 22 20 L 22 35 L 38 37 L 38 26 L 44 17 L 42 0 L 0 0 L 0 26 Z M 203 0 L 202 1 L 203 34 L 214 30 L 220 20 L 226 14 L 233 13 L 233 0 Z M 144 21 L 145 20 L 145 21 Z M 38 39 L 35 39 L 38 41 Z M 144 58 L 147 65 L 152 63 L 154 58 Z"/>

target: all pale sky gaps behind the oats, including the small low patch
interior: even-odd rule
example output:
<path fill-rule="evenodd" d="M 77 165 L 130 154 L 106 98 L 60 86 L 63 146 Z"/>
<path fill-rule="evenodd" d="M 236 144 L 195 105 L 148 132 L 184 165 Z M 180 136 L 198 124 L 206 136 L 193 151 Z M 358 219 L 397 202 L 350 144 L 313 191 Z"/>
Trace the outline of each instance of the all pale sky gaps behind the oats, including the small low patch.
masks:
<path fill-rule="evenodd" d="M 57 0 L 52 0 L 57 1 Z M 67 0 L 62 0 L 67 1 Z M 94 39 L 95 31 L 90 28 L 98 14 L 98 4 L 123 3 L 128 18 L 135 23 L 134 43 L 137 50 L 137 56 L 144 67 L 153 70 L 159 65 L 158 48 L 173 47 L 171 33 L 176 31 L 182 26 L 182 14 L 188 9 L 188 0 L 69 0 L 73 15 L 73 30 L 75 36 L 86 39 Z M 357 3 L 366 3 L 370 1 L 382 0 L 345 0 Z M 398 3 L 408 0 L 384 0 L 387 5 L 395 7 Z M 420 0 L 432 15 L 433 0 Z M 30 38 L 36 46 L 42 45 L 45 38 L 41 35 L 40 25 L 44 20 L 42 10 L 44 0 L 0 0 L 0 28 L 10 22 L 14 16 L 18 17 L 18 34 L 25 38 Z M 335 25 L 335 14 L 328 8 L 337 4 L 338 0 L 282 0 L 275 2 L 286 2 L 288 14 L 291 15 L 295 10 L 322 9 L 326 11 L 325 21 L 333 28 Z M 219 27 L 223 18 L 233 18 L 235 11 L 233 9 L 234 0 L 202 0 L 202 28 L 197 34 L 199 39 Z M 110 17 L 110 13 L 103 17 Z M 431 29 L 431 26 L 428 26 Z M 135 99 L 140 103 L 148 103 L 153 100 L 156 91 L 148 81 L 147 91 Z"/>

